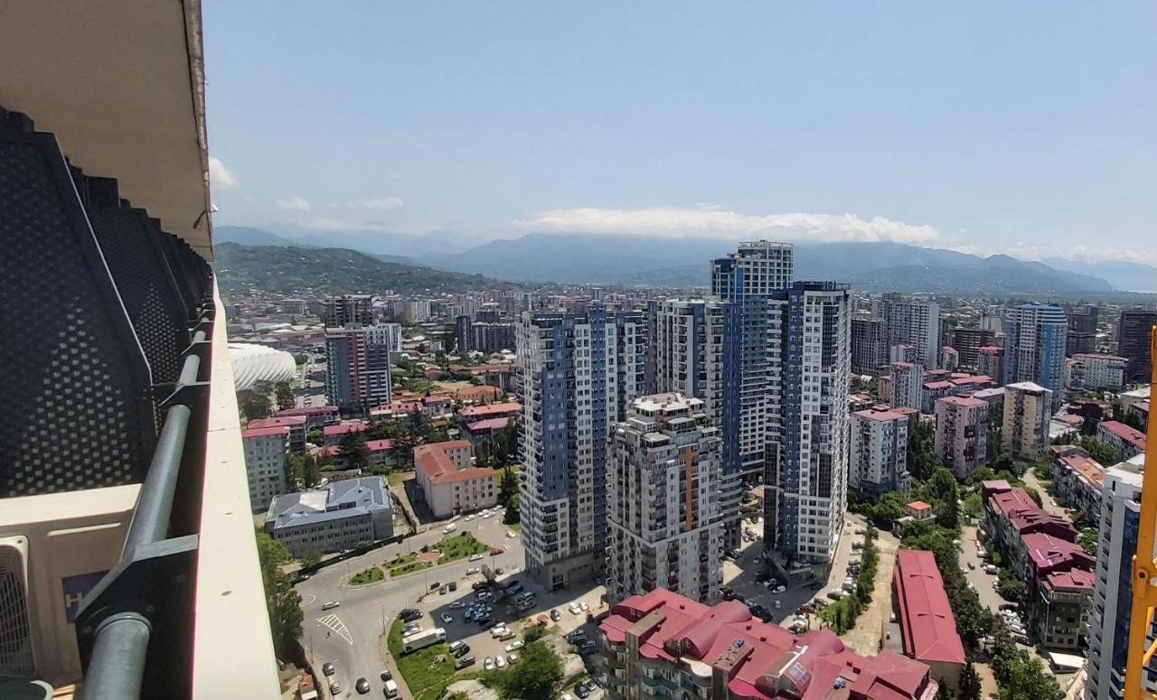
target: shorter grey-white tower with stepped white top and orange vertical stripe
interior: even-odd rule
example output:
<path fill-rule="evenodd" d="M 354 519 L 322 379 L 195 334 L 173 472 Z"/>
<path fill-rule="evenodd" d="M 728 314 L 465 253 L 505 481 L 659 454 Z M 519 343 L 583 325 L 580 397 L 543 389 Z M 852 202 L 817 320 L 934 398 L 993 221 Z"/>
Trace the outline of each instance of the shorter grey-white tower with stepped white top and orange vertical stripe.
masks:
<path fill-rule="evenodd" d="M 607 597 L 665 588 L 713 602 L 722 581 L 720 430 L 683 393 L 631 403 L 607 457 Z"/>

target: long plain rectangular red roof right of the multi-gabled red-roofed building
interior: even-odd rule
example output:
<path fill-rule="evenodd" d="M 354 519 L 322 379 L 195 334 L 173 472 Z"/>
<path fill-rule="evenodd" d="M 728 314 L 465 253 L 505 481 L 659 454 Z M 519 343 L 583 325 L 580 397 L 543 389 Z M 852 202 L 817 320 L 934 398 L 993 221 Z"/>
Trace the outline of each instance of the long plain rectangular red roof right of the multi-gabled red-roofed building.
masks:
<path fill-rule="evenodd" d="M 956 631 L 936 557 L 922 550 L 900 550 L 892 582 L 900 607 L 905 654 L 923 662 L 963 664 L 964 643 Z"/>

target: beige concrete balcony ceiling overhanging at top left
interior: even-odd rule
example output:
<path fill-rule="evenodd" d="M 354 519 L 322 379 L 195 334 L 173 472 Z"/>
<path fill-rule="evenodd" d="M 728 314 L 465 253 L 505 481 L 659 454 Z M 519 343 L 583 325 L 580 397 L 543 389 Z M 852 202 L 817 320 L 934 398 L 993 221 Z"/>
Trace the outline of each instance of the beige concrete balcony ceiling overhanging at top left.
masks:
<path fill-rule="evenodd" d="M 200 0 L 3 2 L 0 66 L 0 105 L 213 258 Z"/>

